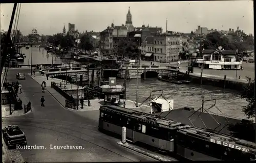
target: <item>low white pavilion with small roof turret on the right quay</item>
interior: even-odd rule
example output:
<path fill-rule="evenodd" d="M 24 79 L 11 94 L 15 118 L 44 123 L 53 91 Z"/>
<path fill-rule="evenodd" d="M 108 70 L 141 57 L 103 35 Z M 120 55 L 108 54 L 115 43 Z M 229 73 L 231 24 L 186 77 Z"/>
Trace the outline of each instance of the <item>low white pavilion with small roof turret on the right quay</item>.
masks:
<path fill-rule="evenodd" d="M 224 50 L 221 46 L 216 50 L 203 50 L 203 65 L 209 69 L 241 69 L 242 61 L 238 60 L 236 50 Z"/>

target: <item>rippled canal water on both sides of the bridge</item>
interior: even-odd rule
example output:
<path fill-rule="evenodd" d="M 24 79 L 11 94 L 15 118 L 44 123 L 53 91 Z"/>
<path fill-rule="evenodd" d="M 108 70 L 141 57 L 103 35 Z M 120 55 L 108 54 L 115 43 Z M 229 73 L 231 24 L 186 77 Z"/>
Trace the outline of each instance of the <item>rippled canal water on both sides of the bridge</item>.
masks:
<path fill-rule="evenodd" d="M 53 63 L 67 63 L 55 55 L 49 55 L 47 58 L 46 50 L 42 52 L 42 48 L 39 51 L 39 47 L 32 47 L 32 63 L 33 64 L 51 64 Z M 26 53 L 27 58 L 24 60 L 24 64 L 30 62 L 30 48 L 22 48 L 22 53 Z M 73 61 L 74 62 L 74 61 Z M 75 62 L 74 62 L 75 63 Z M 123 79 L 117 79 L 117 83 L 123 84 Z M 131 79 L 127 81 L 127 98 L 136 101 L 136 88 L 137 80 Z M 151 91 L 163 90 L 163 97 L 166 99 L 174 99 L 174 109 L 184 106 L 194 107 L 195 110 L 202 105 L 202 96 L 205 100 L 216 99 L 216 106 L 226 116 L 246 118 L 242 112 L 242 107 L 246 105 L 246 100 L 242 99 L 240 94 L 231 90 L 223 90 L 211 86 L 199 86 L 199 85 L 175 85 L 172 83 L 166 83 L 158 80 L 157 78 L 139 79 L 138 89 L 138 101 L 141 103 L 147 97 L 150 96 Z M 160 95 L 161 92 L 152 94 L 152 98 Z M 149 104 L 150 101 L 146 101 L 144 104 Z M 206 102 L 204 108 L 210 107 L 214 104 L 214 101 Z M 212 107 L 209 111 L 215 114 L 222 114 L 216 107 Z"/>

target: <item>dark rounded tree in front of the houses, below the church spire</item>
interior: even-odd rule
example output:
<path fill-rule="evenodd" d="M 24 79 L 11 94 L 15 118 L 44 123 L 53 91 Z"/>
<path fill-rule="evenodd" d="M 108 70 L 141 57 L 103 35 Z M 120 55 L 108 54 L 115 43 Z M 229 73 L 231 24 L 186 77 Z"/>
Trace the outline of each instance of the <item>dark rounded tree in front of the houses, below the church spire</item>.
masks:
<path fill-rule="evenodd" d="M 139 48 L 134 42 L 127 42 L 124 39 L 121 39 L 118 44 L 118 56 L 127 57 L 137 57 L 139 55 Z"/>

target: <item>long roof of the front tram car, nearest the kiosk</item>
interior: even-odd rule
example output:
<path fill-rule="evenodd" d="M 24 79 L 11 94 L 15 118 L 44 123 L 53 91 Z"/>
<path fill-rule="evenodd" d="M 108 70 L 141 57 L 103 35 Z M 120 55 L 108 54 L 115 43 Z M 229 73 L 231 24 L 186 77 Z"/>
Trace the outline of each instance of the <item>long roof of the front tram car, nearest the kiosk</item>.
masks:
<path fill-rule="evenodd" d="M 106 105 L 106 106 L 100 106 L 100 107 L 108 108 L 108 109 L 119 111 L 119 112 L 126 113 L 126 114 L 130 114 L 134 117 L 151 120 L 153 122 L 156 122 L 160 125 L 165 126 L 166 128 L 172 126 L 174 129 L 174 128 L 182 125 L 180 122 L 176 122 L 176 121 L 169 120 L 169 119 L 164 119 L 163 117 L 159 117 L 158 115 L 152 115 L 152 114 L 147 114 L 147 113 L 143 113 L 143 112 L 138 112 L 131 108 L 124 108 L 124 107 L 115 106 L 115 105 Z"/>

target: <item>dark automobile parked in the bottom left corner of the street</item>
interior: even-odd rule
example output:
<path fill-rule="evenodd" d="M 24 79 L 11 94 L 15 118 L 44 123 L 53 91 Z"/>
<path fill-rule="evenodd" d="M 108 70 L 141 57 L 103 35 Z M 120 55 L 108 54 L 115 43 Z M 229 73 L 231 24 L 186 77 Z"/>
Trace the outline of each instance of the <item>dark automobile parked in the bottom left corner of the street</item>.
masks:
<path fill-rule="evenodd" d="M 25 133 L 17 125 L 9 125 L 2 132 L 8 149 L 16 148 L 16 145 L 27 145 Z"/>

